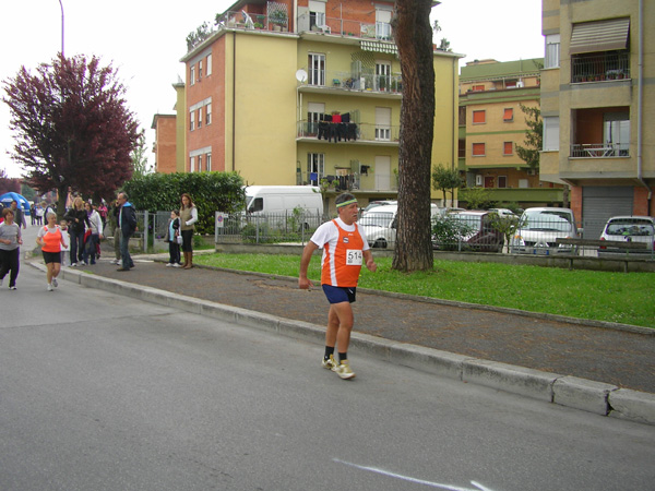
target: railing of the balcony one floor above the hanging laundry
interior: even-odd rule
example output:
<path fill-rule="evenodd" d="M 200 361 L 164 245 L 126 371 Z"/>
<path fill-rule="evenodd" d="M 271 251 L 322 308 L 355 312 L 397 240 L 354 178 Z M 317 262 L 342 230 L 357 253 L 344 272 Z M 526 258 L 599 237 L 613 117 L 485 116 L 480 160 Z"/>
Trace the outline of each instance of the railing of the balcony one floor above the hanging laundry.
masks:
<path fill-rule="evenodd" d="M 344 71 L 303 70 L 308 80 L 301 87 L 335 88 L 344 91 L 379 92 L 402 94 L 403 79 L 400 73 L 391 75 L 373 75 L 372 73 L 354 74 Z"/>

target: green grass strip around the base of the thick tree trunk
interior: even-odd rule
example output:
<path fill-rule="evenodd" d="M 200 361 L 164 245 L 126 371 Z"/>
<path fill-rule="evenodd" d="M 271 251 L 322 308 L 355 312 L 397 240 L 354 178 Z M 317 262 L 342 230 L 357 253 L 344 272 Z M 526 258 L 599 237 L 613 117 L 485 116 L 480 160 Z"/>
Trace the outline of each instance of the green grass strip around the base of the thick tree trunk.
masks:
<path fill-rule="evenodd" d="M 199 264 L 298 276 L 298 255 L 207 254 Z M 361 270 L 359 286 L 485 306 L 509 307 L 580 319 L 655 327 L 655 276 L 539 266 L 434 261 L 430 273 L 391 271 L 391 258 L 376 258 L 378 271 Z M 320 263 L 312 259 L 309 277 L 319 284 Z"/>

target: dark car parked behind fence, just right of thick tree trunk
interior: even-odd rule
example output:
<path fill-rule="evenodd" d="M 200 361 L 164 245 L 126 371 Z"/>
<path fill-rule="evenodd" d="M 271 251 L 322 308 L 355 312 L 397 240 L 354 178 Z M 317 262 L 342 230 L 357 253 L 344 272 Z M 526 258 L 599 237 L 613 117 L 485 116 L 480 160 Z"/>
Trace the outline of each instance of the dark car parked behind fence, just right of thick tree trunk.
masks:
<path fill-rule="evenodd" d="M 492 225 L 495 216 L 488 211 L 461 211 L 440 216 L 437 220 L 444 226 L 437 227 L 432 247 L 451 251 L 501 252 L 504 239 Z"/>

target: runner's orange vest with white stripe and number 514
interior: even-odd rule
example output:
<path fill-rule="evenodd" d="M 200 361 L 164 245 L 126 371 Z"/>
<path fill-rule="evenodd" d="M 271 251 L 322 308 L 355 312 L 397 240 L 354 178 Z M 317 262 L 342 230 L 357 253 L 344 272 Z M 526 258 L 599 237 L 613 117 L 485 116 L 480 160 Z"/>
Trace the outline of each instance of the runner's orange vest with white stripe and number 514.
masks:
<path fill-rule="evenodd" d="M 338 238 L 336 241 L 326 242 L 323 247 L 321 285 L 356 287 L 361 270 L 365 241 L 357 225 L 353 231 L 347 231 L 340 227 L 336 220 L 332 223 L 338 231 Z"/>

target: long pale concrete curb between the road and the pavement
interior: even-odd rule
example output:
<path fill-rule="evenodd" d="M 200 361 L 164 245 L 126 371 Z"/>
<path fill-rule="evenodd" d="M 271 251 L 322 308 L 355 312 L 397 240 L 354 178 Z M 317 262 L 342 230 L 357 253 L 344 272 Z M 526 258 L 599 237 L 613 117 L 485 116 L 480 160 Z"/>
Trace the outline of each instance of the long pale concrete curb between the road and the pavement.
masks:
<path fill-rule="evenodd" d="M 29 264 L 45 272 L 43 264 L 35 262 Z M 324 328 L 307 322 L 288 320 L 128 282 L 95 276 L 83 271 L 64 268 L 60 276 L 66 280 L 90 288 L 127 295 L 151 303 L 261 328 L 295 339 L 317 343 L 321 346 L 324 342 Z M 353 333 L 350 351 L 359 351 L 434 375 L 483 385 L 546 403 L 655 426 L 655 394 L 619 388 L 615 385 L 575 376 L 465 357 L 360 333 Z"/>

